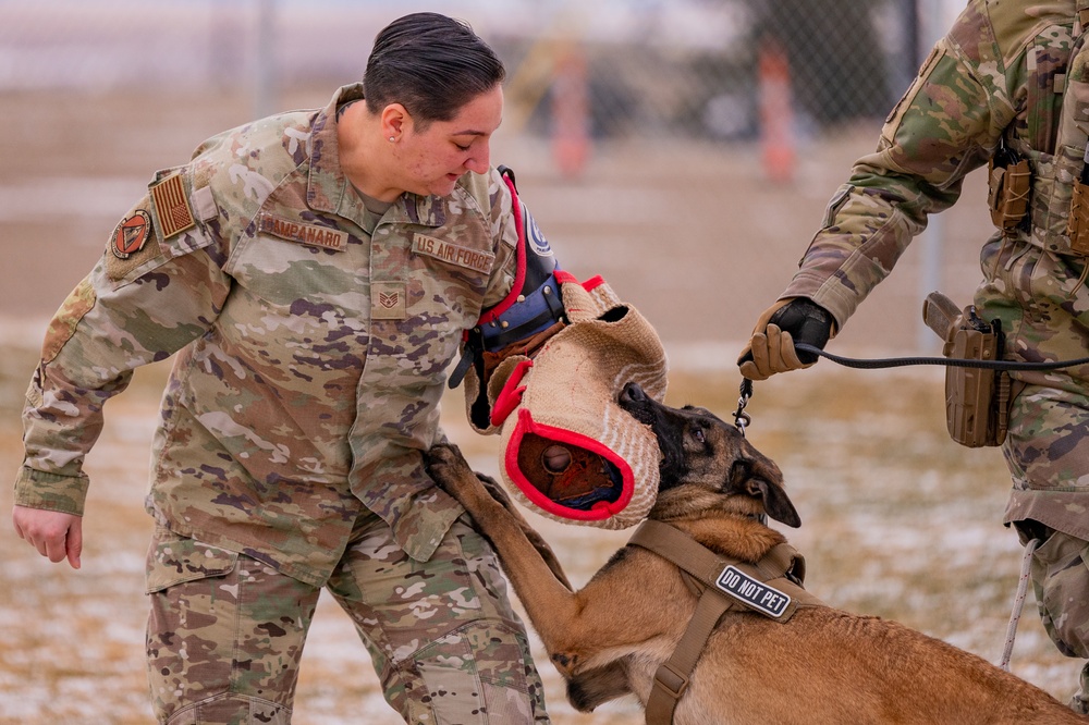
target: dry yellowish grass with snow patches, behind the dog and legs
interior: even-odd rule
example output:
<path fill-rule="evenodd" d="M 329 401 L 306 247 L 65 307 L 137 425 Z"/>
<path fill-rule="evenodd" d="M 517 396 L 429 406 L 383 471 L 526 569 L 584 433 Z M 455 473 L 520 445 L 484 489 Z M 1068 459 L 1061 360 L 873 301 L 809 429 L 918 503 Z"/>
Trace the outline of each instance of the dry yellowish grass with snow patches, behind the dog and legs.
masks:
<path fill-rule="evenodd" d="M 0 462 L 14 471 L 19 408 L 34 354 L 15 345 L 7 353 L 0 364 Z M 0 527 L 0 723 L 148 722 L 142 592 L 149 524 L 142 500 L 164 371 L 142 372 L 108 406 L 107 429 L 88 463 L 95 484 L 83 569 L 50 565 L 10 526 Z M 940 381 L 935 370 L 858 372 L 822 362 L 758 383 L 748 435 L 786 475 L 804 520 L 788 536 L 807 557 L 809 589 L 836 606 L 898 619 L 996 662 L 1020 552 L 999 524 L 1008 480 L 996 451 L 968 451 L 946 438 Z M 736 372 L 723 367 L 685 371 L 678 365 L 669 400 L 729 419 L 737 382 Z M 468 431 L 456 395 L 444 417 L 474 465 L 494 474 L 498 441 Z M 10 496 L 8 487 L 0 490 L 5 511 Z M 576 585 L 628 536 L 530 518 Z M 539 646 L 536 654 L 559 725 L 643 722 L 631 702 L 575 713 Z M 1079 663 L 1054 651 L 1031 598 L 1013 666 L 1064 699 L 1076 679 Z M 295 722 L 397 722 L 351 624 L 325 600 L 304 659 Z"/>

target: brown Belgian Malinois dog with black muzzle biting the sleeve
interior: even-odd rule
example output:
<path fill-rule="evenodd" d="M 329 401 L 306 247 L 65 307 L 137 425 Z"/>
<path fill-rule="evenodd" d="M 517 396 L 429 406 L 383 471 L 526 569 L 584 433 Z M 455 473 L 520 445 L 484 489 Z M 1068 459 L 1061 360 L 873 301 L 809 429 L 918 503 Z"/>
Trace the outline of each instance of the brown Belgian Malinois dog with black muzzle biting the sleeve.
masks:
<path fill-rule="evenodd" d="M 761 515 L 800 519 L 782 475 L 708 410 L 672 408 L 628 384 L 620 405 L 650 426 L 662 453 L 650 519 L 721 555 L 758 562 L 785 541 Z M 453 445 L 429 453 L 435 480 L 466 507 L 567 680 L 580 711 L 634 693 L 646 706 L 654 673 L 697 605 L 681 569 L 628 545 L 575 592 L 502 489 Z M 1043 690 L 983 659 L 895 622 L 818 604 L 785 623 L 752 611 L 721 616 L 676 702 L 677 725 L 1085 723 Z"/>

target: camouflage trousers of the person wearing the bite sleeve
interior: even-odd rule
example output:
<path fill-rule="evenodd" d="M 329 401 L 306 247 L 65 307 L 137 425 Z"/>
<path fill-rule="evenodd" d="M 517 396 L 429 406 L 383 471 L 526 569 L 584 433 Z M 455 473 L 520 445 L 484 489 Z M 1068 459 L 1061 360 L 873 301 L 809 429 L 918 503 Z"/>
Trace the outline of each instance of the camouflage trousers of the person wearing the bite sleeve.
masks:
<path fill-rule="evenodd" d="M 147 665 L 170 725 L 291 722 L 320 588 L 159 527 L 148 553 Z M 465 517 L 426 563 L 377 516 L 326 589 L 355 623 L 387 701 L 413 725 L 544 725 L 543 690 L 495 556 Z"/>

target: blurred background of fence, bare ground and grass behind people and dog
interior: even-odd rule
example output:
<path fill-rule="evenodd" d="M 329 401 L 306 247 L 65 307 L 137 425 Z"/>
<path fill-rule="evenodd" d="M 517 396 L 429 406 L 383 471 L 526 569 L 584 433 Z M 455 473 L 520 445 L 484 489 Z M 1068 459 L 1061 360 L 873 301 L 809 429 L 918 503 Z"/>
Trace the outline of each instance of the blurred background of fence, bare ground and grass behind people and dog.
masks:
<path fill-rule="evenodd" d="M 580 279 L 603 275 L 659 330 L 671 400 L 729 418 L 734 360 L 785 287 L 852 163 L 964 0 L 0 0 L 0 464 L 48 318 L 155 170 L 358 79 L 375 34 L 408 12 L 468 21 L 504 59 L 493 162 Z M 830 349 L 935 354 L 927 293 L 966 304 L 991 231 L 982 173 L 932 220 Z M 148 722 L 142 628 L 146 460 L 164 369 L 111 402 L 88 460 L 84 570 L 0 526 L 0 722 Z M 452 393 L 451 437 L 494 475 Z M 810 588 L 996 661 L 1019 549 L 999 525 L 996 451 L 944 431 L 940 371 L 811 371 L 757 385 L 751 440 L 806 525 Z M 10 490 L 0 488 L 10 507 Z M 627 532 L 534 518 L 585 580 Z M 568 556 L 564 556 L 567 553 Z M 1076 663 L 1029 598 L 1015 672 L 1065 698 Z M 319 616 L 295 722 L 395 722 L 346 618 Z M 554 722 L 641 722 L 631 703 L 577 715 L 540 655 Z M 1017 668 L 1020 665 L 1020 668 Z"/>

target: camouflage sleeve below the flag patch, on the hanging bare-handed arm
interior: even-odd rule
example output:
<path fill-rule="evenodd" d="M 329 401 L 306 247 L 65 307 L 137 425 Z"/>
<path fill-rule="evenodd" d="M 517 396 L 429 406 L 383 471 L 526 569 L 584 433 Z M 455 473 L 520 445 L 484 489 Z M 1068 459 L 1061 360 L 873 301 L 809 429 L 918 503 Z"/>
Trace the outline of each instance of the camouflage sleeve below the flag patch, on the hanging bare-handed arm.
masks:
<path fill-rule="evenodd" d="M 119 230 L 148 208 L 142 200 Z M 101 432 L 106 401 L 127 386 L 135 368 L 203 334 L 222 306 L 230 284 L 204 248 L 210 243 L 197 229 L 158 244 L 152 237 L 127 259 L 108 249 L 64 300 L 27 390 L 16 504 L 83 514 L 83 463 Z"/>

